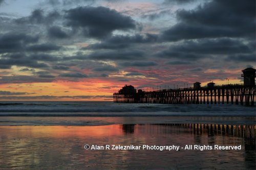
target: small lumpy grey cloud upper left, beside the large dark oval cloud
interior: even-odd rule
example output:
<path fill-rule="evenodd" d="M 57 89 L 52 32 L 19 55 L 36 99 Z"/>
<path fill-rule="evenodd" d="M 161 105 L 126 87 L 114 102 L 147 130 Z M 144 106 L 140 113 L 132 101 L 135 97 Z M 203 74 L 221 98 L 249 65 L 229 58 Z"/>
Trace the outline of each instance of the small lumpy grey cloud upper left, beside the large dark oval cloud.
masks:
<path fill-rule="evenodd" d="M 60 14 L 57 11 L 53 11 L 45 15 L 45 12 L 41 9 L 36 9 L 32 11 L 31 15 L 28 17 L 22 17 L 16 19 L 18 24 L 51 24 L 56 19 L 60 18 Z"/>

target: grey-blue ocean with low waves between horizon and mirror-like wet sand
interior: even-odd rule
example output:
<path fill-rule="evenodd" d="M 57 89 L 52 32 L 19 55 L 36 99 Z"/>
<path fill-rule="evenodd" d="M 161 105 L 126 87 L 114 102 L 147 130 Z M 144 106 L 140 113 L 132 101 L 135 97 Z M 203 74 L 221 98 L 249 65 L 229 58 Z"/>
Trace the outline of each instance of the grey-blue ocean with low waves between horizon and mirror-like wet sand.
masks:
<path fill-rule="evenodd" d="M 123 123 L 180 123 L 184 122 L 184 120 L 189 123 L 232 124 L 234 121 L 234 123 L 240 124 L 254 124 L 255 119 L 251 117 L 255 117 L 255 112 L 255 107 L 227 104 L 164 105 L 120 104 L 113 102 L 0 102 L 0 126 L 96 126 Z M 123 117 L 123 121 L 118 117 Z M 137 118 L 133 119 L 132 122 L 125 122 L 125 120 L 129 120 L 131 117 Z"/>

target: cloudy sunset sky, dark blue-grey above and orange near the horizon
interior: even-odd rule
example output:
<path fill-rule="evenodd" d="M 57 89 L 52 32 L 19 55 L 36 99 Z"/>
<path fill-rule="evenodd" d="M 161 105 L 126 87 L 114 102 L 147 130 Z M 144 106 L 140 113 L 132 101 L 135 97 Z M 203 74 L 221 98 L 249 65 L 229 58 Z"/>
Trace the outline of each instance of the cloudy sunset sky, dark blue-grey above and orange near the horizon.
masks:
<path fill-rule="evenodd" d="M 243 83 L 255 1 L 0 0 L 0 101 Z"/>

